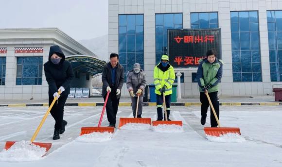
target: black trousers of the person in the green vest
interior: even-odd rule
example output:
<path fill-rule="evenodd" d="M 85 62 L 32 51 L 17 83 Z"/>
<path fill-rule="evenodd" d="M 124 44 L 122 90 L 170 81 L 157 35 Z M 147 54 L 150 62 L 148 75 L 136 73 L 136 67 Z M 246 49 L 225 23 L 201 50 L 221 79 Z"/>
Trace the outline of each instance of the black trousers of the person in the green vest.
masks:
<path fill-rule="evenodd" d="M 219 98 L 217 91 L 209 93 L 210 99 L 212 101 L 213 108 L 215 110 L 215 113 L 219 119 Z M 207 117 L 208 108 L 210 106 L 209 100 L 207 98 L 207 95 L 204 92 L 200 92 L 200 101 L 202 103 L 201 105 L 201 116 Z M 211 107 L 210 107 L 211 108 Z M 211 108 L 211 125 L 217 126 L 216 119 L 213 115 L 212 108 Z"/>

